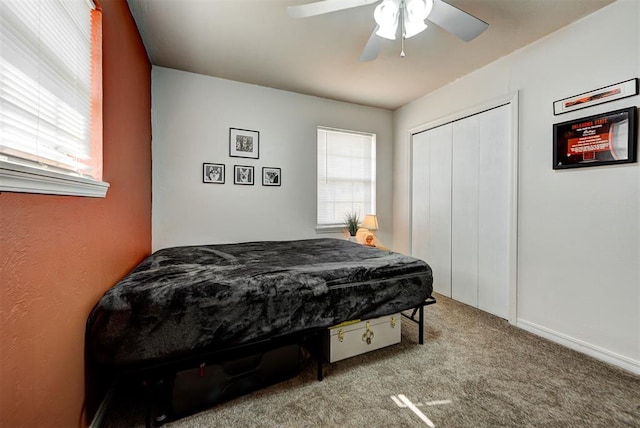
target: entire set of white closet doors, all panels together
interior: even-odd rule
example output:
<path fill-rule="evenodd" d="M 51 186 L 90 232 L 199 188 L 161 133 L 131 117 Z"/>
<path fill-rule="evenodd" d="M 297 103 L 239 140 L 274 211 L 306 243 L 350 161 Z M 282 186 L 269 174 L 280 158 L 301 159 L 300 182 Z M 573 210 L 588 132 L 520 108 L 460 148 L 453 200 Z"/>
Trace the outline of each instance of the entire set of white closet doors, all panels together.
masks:
<path fill-rule="evenodd" d="M 412 254 L 434 290 L 509 317 L 511 105 L 412 138 Z"/>

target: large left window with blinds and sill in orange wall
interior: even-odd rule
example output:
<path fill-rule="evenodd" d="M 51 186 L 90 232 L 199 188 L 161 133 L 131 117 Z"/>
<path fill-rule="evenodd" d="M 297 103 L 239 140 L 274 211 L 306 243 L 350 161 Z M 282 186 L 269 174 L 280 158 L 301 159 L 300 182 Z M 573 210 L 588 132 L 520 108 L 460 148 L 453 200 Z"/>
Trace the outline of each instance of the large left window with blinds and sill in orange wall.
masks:
<path fill-rule="evenodd" d="M 104 196 L 101 14 L 0 2 L 0 191 Z"/>

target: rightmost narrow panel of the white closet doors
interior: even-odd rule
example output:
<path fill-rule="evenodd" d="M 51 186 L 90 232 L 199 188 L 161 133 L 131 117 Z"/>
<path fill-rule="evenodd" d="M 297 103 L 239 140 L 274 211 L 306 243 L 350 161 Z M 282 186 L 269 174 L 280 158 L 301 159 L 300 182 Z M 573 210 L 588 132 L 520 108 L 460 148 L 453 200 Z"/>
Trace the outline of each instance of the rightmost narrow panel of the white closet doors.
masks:
<path fill-rule="evenodd" d="M 507 318 L 511 111 L 502 106 L 479 120 L 478 308 Z"/>

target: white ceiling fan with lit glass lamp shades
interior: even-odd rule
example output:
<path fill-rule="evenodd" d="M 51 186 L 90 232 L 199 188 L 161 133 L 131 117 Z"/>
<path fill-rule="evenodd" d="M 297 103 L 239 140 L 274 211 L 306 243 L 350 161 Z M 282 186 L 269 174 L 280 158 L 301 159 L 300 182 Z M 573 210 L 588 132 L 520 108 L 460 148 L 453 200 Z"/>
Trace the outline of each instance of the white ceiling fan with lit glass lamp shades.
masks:
<path fill-rule="evenodd" d="M 365 45 L 360 61 L 373 61 L 380 52 L 380 37 L 395 40 L 398 26 L 402 39 L 401 57 L 404 57 L 404 39 L 413 37 L 427 28 L 425 20 L 443 28 L 468 42 L 478 37 L 489 24 L 442 0 L 321 0 L 289 6 L 292 18 L 307 18 L 373 3 L 380 4 L 374 12 L 376 27 Z"/>

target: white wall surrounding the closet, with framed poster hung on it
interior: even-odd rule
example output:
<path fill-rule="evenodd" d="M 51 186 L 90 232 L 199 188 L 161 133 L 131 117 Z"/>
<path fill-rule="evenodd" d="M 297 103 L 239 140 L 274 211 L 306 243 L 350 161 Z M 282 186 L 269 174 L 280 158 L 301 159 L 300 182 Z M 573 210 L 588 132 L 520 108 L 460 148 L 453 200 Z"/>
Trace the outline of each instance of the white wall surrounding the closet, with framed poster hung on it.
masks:
<path fill-rule="evenodd" d="M 619 0 L 394 113 L 394 249 L 409 252 L 409 130 L 519 92 L 517 324 L 640 373 L 640 166 L 552 169 L 558 99 L 640 77 L 640 2 Z"/>

